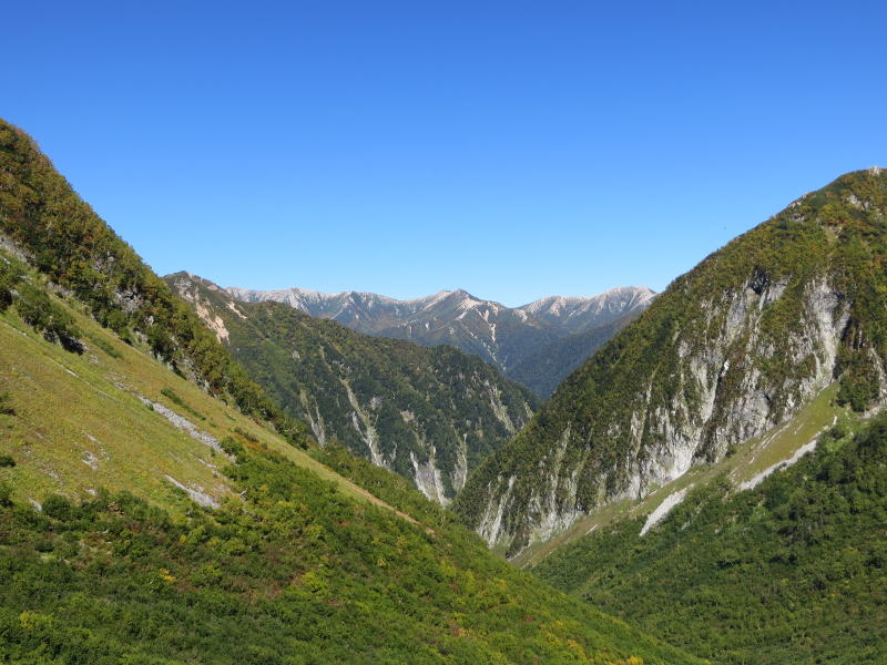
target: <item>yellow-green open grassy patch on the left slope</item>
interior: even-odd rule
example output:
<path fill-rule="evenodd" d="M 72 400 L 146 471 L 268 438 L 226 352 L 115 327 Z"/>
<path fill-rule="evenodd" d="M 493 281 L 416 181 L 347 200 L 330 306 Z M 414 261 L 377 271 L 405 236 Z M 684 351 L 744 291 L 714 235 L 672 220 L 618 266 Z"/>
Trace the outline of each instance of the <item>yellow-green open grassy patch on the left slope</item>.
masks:
<path fill-rule="evenodd" d="M 35 277 L 34 277 L 35 278 Z M 177 493 L 166 474 L 222 498 L 230 483 L 207 464 L 226 460 L 173 427 L 137 396 L 160 402 L 216 439 L 247 432 L 261 446 L 335 479 L 351 495 L 358 489 L 281 440 L 237 409 L 211 398 L 194 383 L 100 327 L 73 300 L 55 298 L 74 316 L 89 347 L 83 355 L 48 344 L 10 309 L 0 315 L 0 392 L 11 393 L 16 417 L 0 417 L 0 454 L 19 463 L 14 490 L 20 499 L 47 492 L 84 497 L 98 487 L 129 489 L 171 507 Z M 111 355 L 108 350 L 111 349 Z M 191 409 L 161 391 L 172 389 Z M 94 441 L 93 441 L 94 439 Z M 94 456 L 93 470 L 84 462 Z"/>

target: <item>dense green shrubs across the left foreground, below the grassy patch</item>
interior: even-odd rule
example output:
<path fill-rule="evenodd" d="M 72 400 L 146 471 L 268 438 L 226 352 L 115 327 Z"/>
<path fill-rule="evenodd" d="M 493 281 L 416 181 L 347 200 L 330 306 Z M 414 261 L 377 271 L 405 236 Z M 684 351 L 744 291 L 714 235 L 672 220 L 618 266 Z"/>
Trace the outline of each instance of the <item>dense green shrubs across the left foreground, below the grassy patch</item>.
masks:
<path fill-rule="evenodd" d="M 277 454 L 228 448 L 245 500 L 216 511 L 103 491 L 0 509 L 0 659 L 695 662 L 511 569 L 460 526 L 416 524 Z"/>

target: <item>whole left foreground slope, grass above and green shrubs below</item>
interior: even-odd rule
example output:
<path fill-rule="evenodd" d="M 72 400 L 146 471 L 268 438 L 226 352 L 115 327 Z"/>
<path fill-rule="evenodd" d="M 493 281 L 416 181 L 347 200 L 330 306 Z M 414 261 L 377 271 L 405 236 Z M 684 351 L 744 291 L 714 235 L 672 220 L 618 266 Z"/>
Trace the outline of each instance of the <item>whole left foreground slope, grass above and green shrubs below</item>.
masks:
<path fill-rule="evenodd" d="M 696 662 L 0 267 L 0 661 Z M 32 291 L 50 318 L 31 318 Z"/>

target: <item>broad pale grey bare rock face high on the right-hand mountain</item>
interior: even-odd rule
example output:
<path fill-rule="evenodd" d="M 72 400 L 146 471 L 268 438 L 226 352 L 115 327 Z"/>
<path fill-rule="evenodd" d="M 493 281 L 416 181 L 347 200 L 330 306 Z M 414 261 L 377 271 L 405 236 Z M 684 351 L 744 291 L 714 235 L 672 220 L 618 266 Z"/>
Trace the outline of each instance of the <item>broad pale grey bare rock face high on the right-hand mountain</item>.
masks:
<path fill-rule="evenodd" d="M 682 339 L 674 398 L 663 405 L 644 396 L 643 406 L 632 413 L 628 432 L 632 448 L 642 449 L 645 432 L 656 443 L 646 447 L 646 459 L 629 460 L 629 482 L 622 493 L 642 497 L 682 475 L 694 461 L 720 459 L 731 444 L 764 433 L 832 382 L 849 306 L 825 282 L 808 285 L 802 325 L 788 332 L 789 360 L 797 371 L 791 377 L 762 371 L 761 365 L 776 349 L 762 331 L 761 319 L 785 286 L 773 284 L 757 293 L 746 284 L 720 301 L 703 304 L 711 341 L 692 348 Z M 726 316 L 717 316 L 724 311 Z M 619 423 L 613 433 L 621 434 Z"/>

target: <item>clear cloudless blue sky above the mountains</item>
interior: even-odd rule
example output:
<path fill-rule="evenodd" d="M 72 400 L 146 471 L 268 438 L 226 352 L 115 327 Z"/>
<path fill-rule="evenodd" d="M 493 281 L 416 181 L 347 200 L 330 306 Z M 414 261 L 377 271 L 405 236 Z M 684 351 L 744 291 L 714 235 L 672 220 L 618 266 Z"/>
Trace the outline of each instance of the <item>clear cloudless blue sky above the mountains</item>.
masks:
<path fill-rule="evenodd" d="M 887 166 L 884 2 L 11 2 L 0 114 L 161 274 L 660 290 Z"/>

